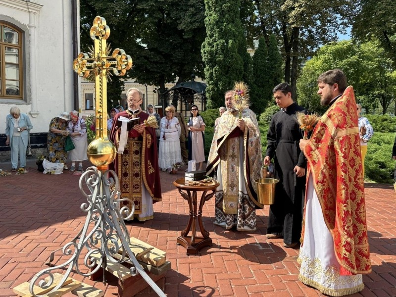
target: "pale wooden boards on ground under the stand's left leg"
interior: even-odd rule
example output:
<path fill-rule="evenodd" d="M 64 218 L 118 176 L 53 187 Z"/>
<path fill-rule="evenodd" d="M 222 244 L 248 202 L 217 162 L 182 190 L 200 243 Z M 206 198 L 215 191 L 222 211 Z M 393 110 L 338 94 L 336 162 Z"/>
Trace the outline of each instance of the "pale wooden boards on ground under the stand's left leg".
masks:
<path fill-rule="evenodd" d="M 56 290 L 55 292 L 46 294 L 47 292 L 51 291 L 56 285 L 60 282 L 63 278 L 63 275 L 60 273 L 53 274 L 53 284 L 47 289 L 41 289 L 39 286 L 34 286 L 34 293 L 36 295 L 44 295 L 44 297 L 60 297 L 66 293 L 71 292 L 73 295 L 78 297 L 102 297 L 104 292 L 100 289 L 96 289 L 92 286 L 84 284 L 82 282 L 76 281 L 72 278 L 67 278 L 66 281 L 63 283 L 63 286 Z M 49 277 L 45 278 L 46 281 L 49 281 Z M 18 296 L 23 297 L 33 297 L 29 291 L 30 283 L 24 282 L 15 288 L 12 291 L 17 294 Z"/>

